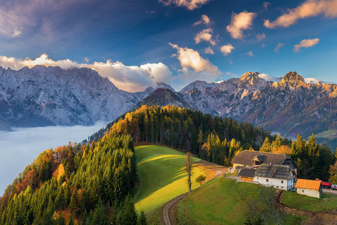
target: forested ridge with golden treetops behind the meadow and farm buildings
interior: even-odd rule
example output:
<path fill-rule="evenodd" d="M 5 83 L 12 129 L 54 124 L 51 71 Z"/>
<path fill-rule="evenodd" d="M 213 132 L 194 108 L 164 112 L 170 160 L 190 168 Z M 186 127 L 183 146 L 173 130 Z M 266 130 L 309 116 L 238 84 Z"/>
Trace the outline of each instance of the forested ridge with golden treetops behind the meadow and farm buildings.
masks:
<path fill-rule="evenodd" d="M 297 163 L 299 177 L 306 179 L 327 180 L 336 161 L 330 147 L 324 142 L 319 145 L 314 136 L 306 141 L 298 135 L 291 141 L 248 122 L 177 106 L 142 106 L 109 123 L 107 129 L 129 134 L 135 143 L 165 144 L 224 166 L 232 166 L 232 159 L 242 150 L 285 153 Z"/>

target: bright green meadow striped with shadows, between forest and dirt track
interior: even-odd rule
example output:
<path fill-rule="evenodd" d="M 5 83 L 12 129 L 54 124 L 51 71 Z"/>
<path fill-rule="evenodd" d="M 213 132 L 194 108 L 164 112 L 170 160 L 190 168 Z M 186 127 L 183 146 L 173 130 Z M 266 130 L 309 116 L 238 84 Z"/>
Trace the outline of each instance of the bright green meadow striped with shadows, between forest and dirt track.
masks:
<path fill-rule="evenodd" d="M 187 173 L 183 168 L 185 162 L 183 152 L 163 146 L 143 145 L 135 147 L 135 155 L 141 180 L 134 196 L 138 212 L 141 210 L 149 212 L 188 191 Z M 208 175 L 207 171 L 193 167 L 192 189 L 198 186 L 194 181 L 201 173 Z"/>

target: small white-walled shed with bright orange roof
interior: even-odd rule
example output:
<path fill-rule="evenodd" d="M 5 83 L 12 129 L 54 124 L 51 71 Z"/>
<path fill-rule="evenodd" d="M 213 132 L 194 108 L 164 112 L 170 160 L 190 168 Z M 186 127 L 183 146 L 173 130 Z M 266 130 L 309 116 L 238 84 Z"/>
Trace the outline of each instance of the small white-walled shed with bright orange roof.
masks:
<path fill-rule="evenodd" d="M 297 179 L 297 194 L 320 198 L 322 195 L 322 185 L 320 180 Z"/>

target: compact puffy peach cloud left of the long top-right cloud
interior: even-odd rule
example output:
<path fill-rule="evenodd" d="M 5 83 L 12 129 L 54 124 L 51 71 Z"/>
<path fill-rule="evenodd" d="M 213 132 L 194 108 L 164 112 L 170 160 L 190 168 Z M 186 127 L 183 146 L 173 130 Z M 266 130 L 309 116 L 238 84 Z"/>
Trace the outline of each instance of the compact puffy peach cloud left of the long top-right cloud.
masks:
<path fill-rule="evenodd" d="M 239 14 L 233 12 L 231 24 L 226 27 L 226 30 L 231 34 L 232 38 L 242 39 L 243 30 L 251 28 L 255 17 L 255 12 L 247 12 L 246 10 Z"/>

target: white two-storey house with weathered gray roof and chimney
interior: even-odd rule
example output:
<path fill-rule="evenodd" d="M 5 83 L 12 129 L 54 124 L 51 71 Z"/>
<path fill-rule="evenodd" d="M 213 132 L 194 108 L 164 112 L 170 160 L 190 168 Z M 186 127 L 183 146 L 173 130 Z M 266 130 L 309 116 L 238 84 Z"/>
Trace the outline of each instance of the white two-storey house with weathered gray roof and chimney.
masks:
<path fill-rule="evenodd" d="M 253 181 L 267 187 L 291 190 L 296 181 L 296 172 L 290 166 L 264 163 L 256 169 Z"/>

